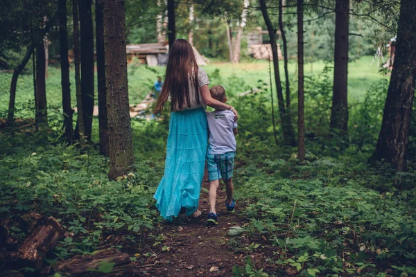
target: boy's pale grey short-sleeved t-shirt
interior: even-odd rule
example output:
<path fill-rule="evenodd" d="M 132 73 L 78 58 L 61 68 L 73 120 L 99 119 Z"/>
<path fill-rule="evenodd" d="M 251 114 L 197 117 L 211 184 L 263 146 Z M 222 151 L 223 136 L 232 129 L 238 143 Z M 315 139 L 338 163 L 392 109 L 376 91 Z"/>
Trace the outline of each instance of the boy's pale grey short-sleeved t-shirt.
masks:
<path fill-rule="evenodd" d="M 208 154 L 236 152 L 237 143 L 233 129 L 237 127 L 232 111 L 207 112 L 209 127 Z"/>

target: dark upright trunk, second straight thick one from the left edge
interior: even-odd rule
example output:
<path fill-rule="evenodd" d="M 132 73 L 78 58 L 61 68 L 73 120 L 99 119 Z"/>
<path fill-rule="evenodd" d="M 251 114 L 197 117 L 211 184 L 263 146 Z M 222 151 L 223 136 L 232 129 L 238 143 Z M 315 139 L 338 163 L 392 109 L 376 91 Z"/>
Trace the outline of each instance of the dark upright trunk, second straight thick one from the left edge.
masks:
<path fill-rule="evenodd" d="M 59 37 L 60 37 L 60 66 L 62 84 L 62 109 L 64 110 L 64 137 L 72 143 L 73 127 L 71 107 L 71 87 L 69 82 L 68 62 L 68 32 L 67 32 L 67 0 L 58 1 Z"/>

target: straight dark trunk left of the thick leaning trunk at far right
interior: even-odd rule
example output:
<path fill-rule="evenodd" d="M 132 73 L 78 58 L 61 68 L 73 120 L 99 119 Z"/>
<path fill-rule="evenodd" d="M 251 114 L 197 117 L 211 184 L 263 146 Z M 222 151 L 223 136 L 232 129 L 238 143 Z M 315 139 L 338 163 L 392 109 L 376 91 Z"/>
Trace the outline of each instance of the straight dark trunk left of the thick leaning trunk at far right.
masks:
<path fill-rule="evenodd" d="M 333 98 L 331 129 L 338 129 L 347 143 L 348 136 L 348 32 L 349 0 L 336 0 L 335 53 L 333 64 Z"/>

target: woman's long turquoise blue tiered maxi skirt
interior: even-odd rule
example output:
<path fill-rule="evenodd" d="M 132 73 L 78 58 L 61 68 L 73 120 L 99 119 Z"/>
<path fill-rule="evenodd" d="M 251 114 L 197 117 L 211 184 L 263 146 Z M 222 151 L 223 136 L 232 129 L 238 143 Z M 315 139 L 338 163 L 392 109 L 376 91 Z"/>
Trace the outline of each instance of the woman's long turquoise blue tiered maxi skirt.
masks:
<path fill-rule="evenodd" d="M 205 110 L 175 111 L 169 122 L 164 177 L 153 198 L 166 220 L 177 217 L 180 209 L 192 215 L 198 208 L 205 155 L 208 144 Z"/>

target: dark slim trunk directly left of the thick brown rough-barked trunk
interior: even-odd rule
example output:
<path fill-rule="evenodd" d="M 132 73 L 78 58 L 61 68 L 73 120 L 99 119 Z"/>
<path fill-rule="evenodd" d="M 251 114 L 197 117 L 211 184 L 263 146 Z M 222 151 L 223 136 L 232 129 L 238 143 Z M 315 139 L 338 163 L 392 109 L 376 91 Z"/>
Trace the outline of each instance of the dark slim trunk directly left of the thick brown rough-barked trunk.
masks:
<path fill-rule="evenodd" d="M 96 0 L 96 51 L 98 78 L 98 124 L 100 129 L 100 154 L 109 156 L 107 127 L 107 94 L 105 90 L 105 51 L 103 2 Z"/>

